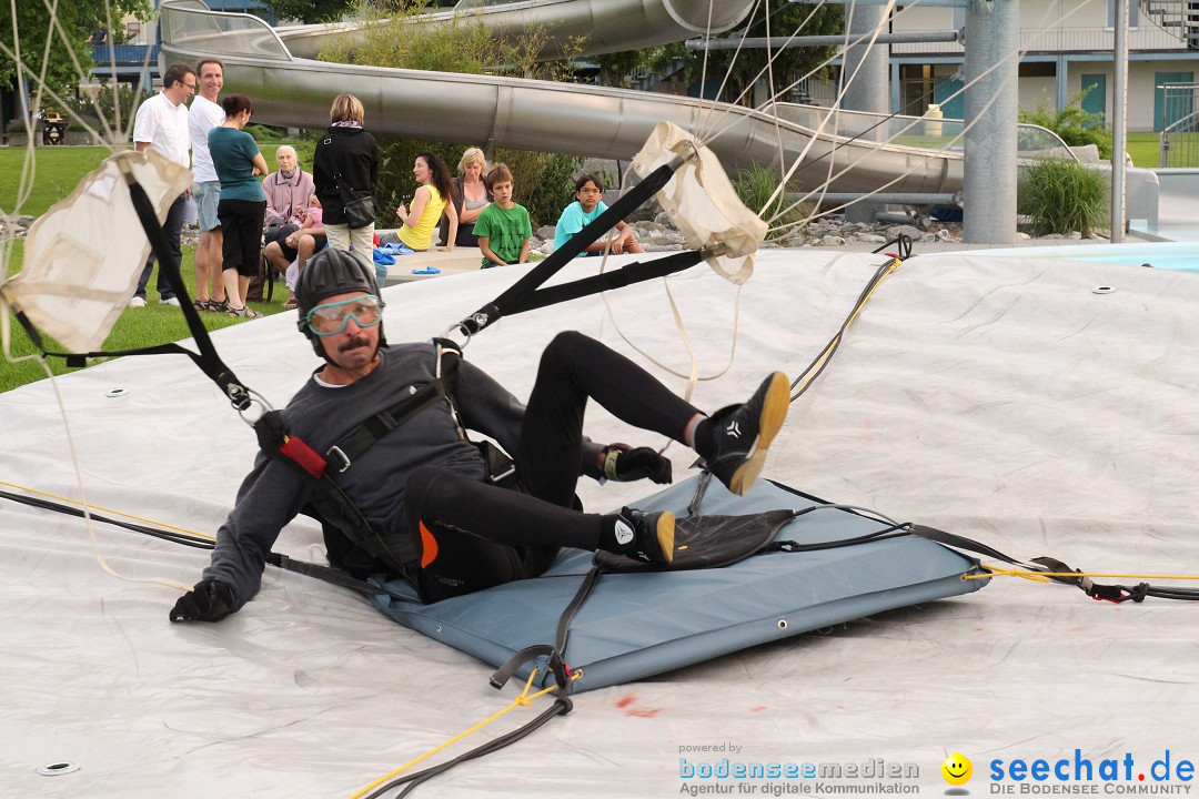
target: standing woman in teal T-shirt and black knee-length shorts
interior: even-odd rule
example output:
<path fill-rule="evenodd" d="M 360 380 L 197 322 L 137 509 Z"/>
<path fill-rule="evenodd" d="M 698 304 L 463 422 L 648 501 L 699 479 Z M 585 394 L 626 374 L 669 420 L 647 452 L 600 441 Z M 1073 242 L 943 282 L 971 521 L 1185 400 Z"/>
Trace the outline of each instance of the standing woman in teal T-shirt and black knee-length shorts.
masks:
<path fill-rule="evenodd" d="M 209 151 L 221 178 L 221 204 L 217 216 L 224 229 L 224 279 L 230 316 L 254 317 L 246 304 L 249 279 L 258 274 L 261 260 L 263 213 L 266 194 L 257 175 L 267 171 L 266 159 L 258 143 L 243 127 L 249 122 L 254 107 L 245 95 L 230 95 L 221 101 L 225 121 L 209 132 Z"/>

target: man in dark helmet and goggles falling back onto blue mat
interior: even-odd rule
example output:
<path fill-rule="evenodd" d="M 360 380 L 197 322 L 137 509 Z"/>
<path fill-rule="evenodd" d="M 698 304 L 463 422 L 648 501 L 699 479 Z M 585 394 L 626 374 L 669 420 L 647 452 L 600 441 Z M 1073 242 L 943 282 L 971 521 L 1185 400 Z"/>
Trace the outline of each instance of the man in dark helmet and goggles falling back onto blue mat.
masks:
<path fill-rule="evenodd" d="M 775 373 L 749 401 L 707 417 L 576 332 L 546 349 L 526 407 L 470 362 L 453 364 L 457 374 L 448 380 L 450 356 L 439 357 L 434 344 L 387 345 L 374 273 L 349 253 L 325 250 L 308 261 L 296 295 L 300 329 L 326 363 L 288 405 L 281 437 L 326 453 L 324 479 L 336 488 L 278 452 L 259 453 L 217 533 L 204 579 L 179 599 L 171 621 L 215 622 L 249 601 L 279 531 L 302 510 L 341 531 L 360 555 L 404 575 L 426 603 L 537 576 L 560 546 L 669 563 L 669 512 L 586 514 L 573 507 L 579 474 L 670 482 L 670 461 L 652 449 L 585 438 L 588 399 L 692 447 L 737 494 L 757 479 L 789 407 L 788 379 Z M 428 386 L 445 388 L 397 424 L 397 401 Z M 355 449 L 368 428 L 378 432 Z M 522 491 L 488 480 L 484 456 L 462 428 L 516 453 Z M 342 448 L 355 454 L 344 456 Z"/>

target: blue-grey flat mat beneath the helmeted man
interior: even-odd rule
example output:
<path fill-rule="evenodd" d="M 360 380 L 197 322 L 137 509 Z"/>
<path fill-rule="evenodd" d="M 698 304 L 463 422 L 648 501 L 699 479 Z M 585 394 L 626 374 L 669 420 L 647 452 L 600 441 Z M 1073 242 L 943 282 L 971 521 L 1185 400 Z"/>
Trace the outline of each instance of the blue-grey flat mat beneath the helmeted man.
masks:
<path fill-rule="evenodd" d="M 698 478 L 633 503 L 685 515 Z M 817 510 L 788 522 L 776 540 L 833 541 L 878 532 L 884 522 L 829 506 L 769 480 L 739 497 L 712 480 L 698 514 L 740 515 L 777 508 Z M 553 644 L 558 619 L 591 569 L 591 552 L 564 550 L 544 575 L 433 605 L 415 601 L 406 582 L 387 588 L 414 597 L 372 601 L 393 619 L 493 666 L 532 644 Z M 977 591 L 962 580 L 977 562 L 916 535 L 808 552 L 765 552 L 719 569 L 604 574 L 571 624 L 565 660 L 583 668 L 588 691 L 710 660 L 944 597 Z M 531 664 L 517 673 L 528 677 Z M 543 683 L 552 677 L 543 678 Z"/>

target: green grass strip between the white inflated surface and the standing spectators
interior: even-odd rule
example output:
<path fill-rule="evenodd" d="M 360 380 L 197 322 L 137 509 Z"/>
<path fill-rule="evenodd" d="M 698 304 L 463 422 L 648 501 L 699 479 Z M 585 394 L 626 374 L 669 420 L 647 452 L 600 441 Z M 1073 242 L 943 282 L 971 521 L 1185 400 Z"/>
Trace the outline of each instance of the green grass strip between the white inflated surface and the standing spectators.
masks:
<path fill-rule="evenodd" d="M 187 284 L 187 292 L 189 296 L 195 295 L 194 254 L 194 247 L 183 247 L 182 273 L 183 283 Z M 8 264 L 8 274 L 14 274 L 20 271 L 22 255 L 22 242 L 14 242 L 11 262 Z M 155 270 L 158 267 L 156 266 Z M 113 331 L 104 340 L 104 350 L 132 350 L 156 344 L 165 344 L 168 341 L 179 341 L 192 337 L 191 331 L 187 329 L 187 320 L 183 319 L 183 311 L 180 308 L 158 304 L 158 292 L 155 291 L 156 280 L 157 273 L 150 279 L 150 285 L 146 291 L 146 299 L 149 304 L 145 308 L 128 308 L 123 314 L 121 314 L 120 319 L 116 320 L 116 325 L 113 326 Z M 283 311 L 283 301 L 287 298 L 287 289 L 282 283 L 278 283 L 275 286 L 275 296 L 271 302 L 249 303 L 249 307 L 264 315 L 278 314 Z M 210 331 L 228 327 L 230 325 L 242 325 L 254 321 L 251 319 L 236 319 L 227 316 L 225 314 L 210 313 L 201 313 L 200 319 L 204 320 L 204 327 Z M 48 341 L 47 349 L 59 352 L 62 351 L 61 347 L 54 341 Z M 38 349 L 34 345 L 34 343 L 25 334 L 24 328 L 22 328 L 14 319 L 12 325 L 12 357 L 19 358 L 22 356 L 35 355 L 37 352 L 40 352 Z M 67 369 L 61 358 L 48 358 L 48 362 L 52 371 L 56 375 L 73 371 Z M 44 377 L 46 370 L 36 361 L 8 363 L 7 359 L 5 359 L 4 362 L 0 362 L 0 392 L 6 392 Z"/>

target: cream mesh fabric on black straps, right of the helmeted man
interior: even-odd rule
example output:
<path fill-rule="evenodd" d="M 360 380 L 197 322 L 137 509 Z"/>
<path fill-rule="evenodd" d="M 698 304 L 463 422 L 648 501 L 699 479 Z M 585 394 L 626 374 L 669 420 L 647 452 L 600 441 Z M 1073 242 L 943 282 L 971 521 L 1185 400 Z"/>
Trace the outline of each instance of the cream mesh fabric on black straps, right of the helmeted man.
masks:
<path fill-rule="evenodd" d="M 688 161 L 657 193 L 658 205 L 683 234 L 687 247 L 718 248 L 718 255 L 705 259 L 717 274 L 745 283 L 767 225 L 741 202 L 716 155 L 679 126 L 658 122 L 633 159 L 633 170 L 644 178 L 679 156 Z"/>

